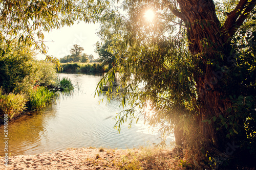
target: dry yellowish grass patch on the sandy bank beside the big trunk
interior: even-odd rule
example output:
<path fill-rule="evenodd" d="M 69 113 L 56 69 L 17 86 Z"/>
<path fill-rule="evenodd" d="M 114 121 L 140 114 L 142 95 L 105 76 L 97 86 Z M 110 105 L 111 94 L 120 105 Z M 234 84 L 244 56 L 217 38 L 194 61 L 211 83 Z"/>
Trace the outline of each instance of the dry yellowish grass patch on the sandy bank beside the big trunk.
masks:
<path fill-rule="evenodd" d="M 95 148 L 91 147 L 91 149 Z M 200 169 L 172 149 L 140 147 L 127 150 L 126 153 L 123 152 L 124 155 L 117 151 L 115 153 L 112 149 L 99 148 L 98 151 L 94 158 L 86 160 L 86 164 L 89 163 L 92 167 L 100 165 L 121 170 Z"/>

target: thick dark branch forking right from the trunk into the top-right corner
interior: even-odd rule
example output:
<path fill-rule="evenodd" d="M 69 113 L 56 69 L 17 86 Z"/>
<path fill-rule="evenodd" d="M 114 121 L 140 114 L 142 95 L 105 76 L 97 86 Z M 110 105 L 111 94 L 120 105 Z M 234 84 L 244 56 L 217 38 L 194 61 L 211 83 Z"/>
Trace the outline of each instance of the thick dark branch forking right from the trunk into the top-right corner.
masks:
<path fill-rule="evenodd" d="M 246 4 L 248 4 L 246 6 Z M 236 33 L 237 29 L 242 26 L 244 20 L 249 16 L 251 10 L 255 7 L 256 0 L 252 0 L 248 2 L 248 0 L 240 0 L 237 7 L 228 13 L 228 17 L 223 25 L 222 31 L 226 33 L 224 35 L 224 42 L 228 40 L 234 33 Z M 244 11 L 242 13 L 242 11 Z"/>

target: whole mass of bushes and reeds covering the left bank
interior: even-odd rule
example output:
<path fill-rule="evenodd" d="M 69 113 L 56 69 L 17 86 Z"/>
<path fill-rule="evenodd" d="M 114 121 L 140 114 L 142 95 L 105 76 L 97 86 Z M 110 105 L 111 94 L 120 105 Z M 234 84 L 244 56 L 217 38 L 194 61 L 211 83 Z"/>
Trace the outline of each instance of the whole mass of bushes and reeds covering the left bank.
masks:
<path fill-rule="evenodd" d="M 29 46 L 0 37 L 0 119 L 13 119 L 54 101 L 57 90 L 72 90 L 69 79 L 59 80 L 52 62 L 38 61 Z M 57 89 L 57 90 L 56 90 Z"/>

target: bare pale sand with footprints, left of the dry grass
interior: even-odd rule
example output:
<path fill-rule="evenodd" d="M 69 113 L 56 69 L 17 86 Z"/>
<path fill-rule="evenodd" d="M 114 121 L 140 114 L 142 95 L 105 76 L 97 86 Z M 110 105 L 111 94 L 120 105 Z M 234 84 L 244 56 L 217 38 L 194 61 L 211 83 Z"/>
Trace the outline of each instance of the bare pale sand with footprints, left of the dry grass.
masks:
<path fill-rule="evenodd" d="M 138 152 L 138 151 L 135 151 Z M 37 155 L 11 156 L 8 165 L 0 158 L 0 169 L 118 169 L 128 150 L 80 148 Z"/>

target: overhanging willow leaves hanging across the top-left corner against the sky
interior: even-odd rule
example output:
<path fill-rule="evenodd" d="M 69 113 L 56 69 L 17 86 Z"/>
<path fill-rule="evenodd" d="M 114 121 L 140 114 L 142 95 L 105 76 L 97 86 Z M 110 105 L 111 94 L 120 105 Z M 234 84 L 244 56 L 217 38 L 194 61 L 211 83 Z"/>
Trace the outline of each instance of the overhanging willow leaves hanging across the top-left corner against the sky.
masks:
<path fill-rule="evenodd" d="M 95 22 L 108 6 L 108 1 L 48 1 L 21 0 L 0 1 L 0 33 L 8 43 L 18 39 L 34 45 L 36 50 L 46 55 L 46 59 L 58 60 L 47 55 L 44 33 L 63 26 L 72 26 L 83 21 Z"/>

